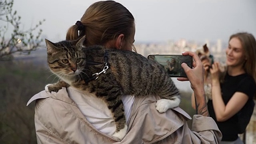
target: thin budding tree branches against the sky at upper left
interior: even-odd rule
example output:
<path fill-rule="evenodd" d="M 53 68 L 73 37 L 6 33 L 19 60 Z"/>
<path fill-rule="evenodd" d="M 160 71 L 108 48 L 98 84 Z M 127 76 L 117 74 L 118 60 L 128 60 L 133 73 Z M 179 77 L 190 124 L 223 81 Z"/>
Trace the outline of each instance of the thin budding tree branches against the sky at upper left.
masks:
<path fill-rule="evenodd" d="M 0 61 L 10 60 L 12 54 L 30 54 L 40 46 L 42 39 L 42 29 L 38 27 L 45 20 L 39 21 L 36 26 L 28 29 L 20 29 L 21 17 L 17 15 L 16 10 L 12 10 L 14 0 L 0 0 L 0 20 L 6 22 L 5 26 L 0 27 Z M 11 36 L 6 38 L 6 32 L 12 28 Z M 37 31 L 37 34 L 34 33 Z"/>

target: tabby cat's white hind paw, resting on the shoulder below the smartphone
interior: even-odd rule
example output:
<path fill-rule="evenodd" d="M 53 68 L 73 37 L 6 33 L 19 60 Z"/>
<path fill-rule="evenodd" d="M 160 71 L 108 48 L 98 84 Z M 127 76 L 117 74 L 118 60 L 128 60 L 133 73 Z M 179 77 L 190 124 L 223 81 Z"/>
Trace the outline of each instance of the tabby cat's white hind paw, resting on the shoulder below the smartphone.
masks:
<path fill-rule="evenodd" d="M 158 112 L 163 113 L 166 112 L 170 108 L 174 108 L 180 104 L 180 99 L 176 98 L 176 100 L 168 100 L 161 99 L 156 102 L 156 110 Z"/>

